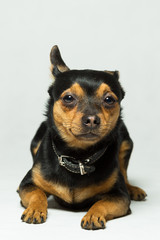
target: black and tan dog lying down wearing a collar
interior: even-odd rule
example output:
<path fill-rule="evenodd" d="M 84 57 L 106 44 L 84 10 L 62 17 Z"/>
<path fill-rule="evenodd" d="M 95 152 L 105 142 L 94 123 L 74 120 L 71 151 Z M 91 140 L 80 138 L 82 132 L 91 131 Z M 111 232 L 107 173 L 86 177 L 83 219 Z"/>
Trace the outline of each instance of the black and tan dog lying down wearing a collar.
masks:
<path fill-rule="evenodd" d="M 90 207 L 82 228 L 105 228 L 107 220 L 130 212 L 130 199 L 146 197 L 127 179 L 133 143 L 121 118 L 119 74 L 70 70 L 57 46 L 50 59 L 55 81 L 46 121 L 32 140 L 34 163 L 19 186 L 22 220 L 45 222 L 47 197 L 54 195 L 67 207 Z"/>

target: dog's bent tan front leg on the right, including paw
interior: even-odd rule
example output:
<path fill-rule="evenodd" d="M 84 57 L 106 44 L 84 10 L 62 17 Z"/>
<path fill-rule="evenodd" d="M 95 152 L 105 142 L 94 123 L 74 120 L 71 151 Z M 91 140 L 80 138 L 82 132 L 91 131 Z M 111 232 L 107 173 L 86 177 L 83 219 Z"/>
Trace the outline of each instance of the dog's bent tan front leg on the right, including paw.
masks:
<path fill-rule="evenodd" d="M 105 228 L 106 221 L 129 213 L 129 199 L 111 197 L 96 202 L 82 218 L 81 226 L 87 230 Z"/>

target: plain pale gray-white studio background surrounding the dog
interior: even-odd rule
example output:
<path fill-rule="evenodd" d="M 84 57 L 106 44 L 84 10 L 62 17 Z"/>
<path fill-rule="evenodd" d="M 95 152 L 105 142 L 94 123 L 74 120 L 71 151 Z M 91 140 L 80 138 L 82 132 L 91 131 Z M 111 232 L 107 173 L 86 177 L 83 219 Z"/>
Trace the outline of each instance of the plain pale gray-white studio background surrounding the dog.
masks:
<path fill-rule="evenodd" d="M 0 1 L 1 239 L 159 239 L 159 9 L 158 0 Z M 55 44 L 71 69 L 119 70 L 126 90 L 123 116 L 135 146 L 129 178 L 148 197 L 103 231 L 84 231 L 84 212 L 53 206 L 45 224 L 20 221 L 16 188 L 32 165 L 29 146 L 44 119 Z"/>

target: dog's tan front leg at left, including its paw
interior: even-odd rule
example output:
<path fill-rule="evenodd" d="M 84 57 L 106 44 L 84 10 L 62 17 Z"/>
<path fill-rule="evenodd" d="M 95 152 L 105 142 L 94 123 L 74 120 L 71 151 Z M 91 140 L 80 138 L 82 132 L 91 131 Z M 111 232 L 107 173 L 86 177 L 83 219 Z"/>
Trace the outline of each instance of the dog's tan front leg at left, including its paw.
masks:
<path fill-rule="evenodd" d="M 23 179 L 18 190 L 22 205 L 26 208 L 21 219 L 26 223 L 43 223 L 47 218 L 47 196 L 30 180 L 31 171 Z"/>

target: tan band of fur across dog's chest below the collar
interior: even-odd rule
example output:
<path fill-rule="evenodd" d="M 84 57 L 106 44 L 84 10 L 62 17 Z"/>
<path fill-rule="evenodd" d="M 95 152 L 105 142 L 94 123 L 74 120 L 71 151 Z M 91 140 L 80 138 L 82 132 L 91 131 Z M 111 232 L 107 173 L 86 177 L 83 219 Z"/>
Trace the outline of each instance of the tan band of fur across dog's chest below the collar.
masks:
<path fill-rule="evenodd" d="M 67 203 L 80 203 L 97 194 L 108 192 L 116 182 L 117 170 L 115 170 L 105 181 L 84 188 L 69 188 L 59 183 L 47 181 L 42 177 L 37 167 L 32 170 L 32 176 L 34 184 L 44 192 L 57 196 Z"/>

